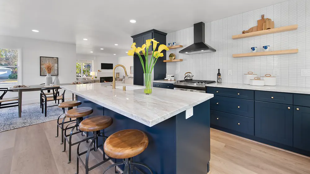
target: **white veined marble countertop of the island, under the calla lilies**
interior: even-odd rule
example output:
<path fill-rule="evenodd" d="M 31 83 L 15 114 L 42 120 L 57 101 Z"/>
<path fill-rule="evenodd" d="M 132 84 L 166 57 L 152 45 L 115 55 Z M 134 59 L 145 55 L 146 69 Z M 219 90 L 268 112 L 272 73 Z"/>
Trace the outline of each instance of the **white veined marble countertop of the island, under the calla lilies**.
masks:
<path fill-rule="evenodd" d="M 112 89 L 111 83 L 65 85 L 61 88 L 122 114 L 147 126 L 156 125 L 213 97 L 213 94 L 153 88 L 145 95 L 143 86 L 116 83 L 116 86 L 141 87 Z"/>

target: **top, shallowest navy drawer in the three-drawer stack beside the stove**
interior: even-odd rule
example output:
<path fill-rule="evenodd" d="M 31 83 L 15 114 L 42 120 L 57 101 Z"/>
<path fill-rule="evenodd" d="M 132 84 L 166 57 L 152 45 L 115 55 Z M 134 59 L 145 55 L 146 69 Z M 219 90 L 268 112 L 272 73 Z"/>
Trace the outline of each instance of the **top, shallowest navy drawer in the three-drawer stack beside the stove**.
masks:
<path fill-rule="evenodd" d="M 252 90 L 222 88 L 222 87 L 207 87 L 207 93 L 223 97 L 254 100 L 254 91 Z"/>

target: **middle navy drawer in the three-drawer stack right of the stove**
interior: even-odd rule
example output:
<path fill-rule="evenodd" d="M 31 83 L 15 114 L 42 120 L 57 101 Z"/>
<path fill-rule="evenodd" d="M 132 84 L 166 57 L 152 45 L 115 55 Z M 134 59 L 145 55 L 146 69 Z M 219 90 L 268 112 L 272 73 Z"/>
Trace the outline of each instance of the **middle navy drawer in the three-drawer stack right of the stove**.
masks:
<path fill-rule="evenodd" d="M 214 96 L 210 109 L 254 118 L 254 101 Z"/>

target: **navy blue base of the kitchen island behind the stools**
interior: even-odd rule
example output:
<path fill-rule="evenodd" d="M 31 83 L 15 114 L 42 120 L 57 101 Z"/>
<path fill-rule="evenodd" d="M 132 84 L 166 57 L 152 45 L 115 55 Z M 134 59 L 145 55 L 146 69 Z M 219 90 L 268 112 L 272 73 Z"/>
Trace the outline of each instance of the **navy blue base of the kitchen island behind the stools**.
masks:
<path fill-rule="evenodd" d="M 123 129 L 144 131 L 149 138 L 148 147 L 133 160 L 147 164 L 154 174 L 206 174 L 209 172 L 210 100 L 194 106 L 193 116 L 188 119 L 185 119 L 184 111 L 152 127 L 80 96 L 78 100 L 82 102 L 79 107 L 94 109 L 90 116 L 106 115 L 113 118 L 113 124 L 102 130 L 106 136 Z M 102 141 L 103 139 L 99 140 L 99 142 Z M 120 161 L 121 159 L 117 159 L 117 162 Z M 144 168 L 139 169 L 149 174 Z"/>

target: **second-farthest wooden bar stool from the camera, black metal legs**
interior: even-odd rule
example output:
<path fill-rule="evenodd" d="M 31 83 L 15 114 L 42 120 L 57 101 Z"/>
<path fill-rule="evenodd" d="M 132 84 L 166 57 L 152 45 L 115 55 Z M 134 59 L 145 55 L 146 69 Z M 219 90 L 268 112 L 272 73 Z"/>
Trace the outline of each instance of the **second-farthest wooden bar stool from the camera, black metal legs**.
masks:
<path fill-rule="evenodd" d="M 71 162 L 71 146 L 74 146 L 78 143 L 80 143 L 81 141 L 78 142 L 74 142 L 72 143 L 72 135 L 74 134 L 78 134 L 81 133 L 81 130 L 78 130 L 78 132 L 73 133 L 74 128 L 77 128 L 78 125 L 81 123 L 81 121 L 83 121 L 83 117 L 90 115 L 91 113 L 93 113 L 93 109 L 90 107 L 80 107 L 80 108 L 74 108 L 74 109 L 70 109 L 69 111 L 67 111 L 65 113 L 65 117 L 68 118 L 75 118 L 75 122 L 73 123 L 69 123 L 66 128 L 64 129 L 64 138 L 66 139 L 66 141 L 69 143 L 69 162 Z M 65 119 L 65 118 L 64 118 Z M 69 125 L 71 124 L 75 124 L 74 126 L 72 126 L 71 132 L 69 135 L 67 135 L 67 129 L 69 129 Z M 83 132 L 82 132 L 83 135 Z M 69 137 L 69 140 L 68 138 Z M 64 142 L 64 151 L 66 151 L 66 142 Z M 64 152 L 63 151 L 63 152 Z"/>

